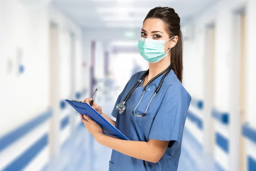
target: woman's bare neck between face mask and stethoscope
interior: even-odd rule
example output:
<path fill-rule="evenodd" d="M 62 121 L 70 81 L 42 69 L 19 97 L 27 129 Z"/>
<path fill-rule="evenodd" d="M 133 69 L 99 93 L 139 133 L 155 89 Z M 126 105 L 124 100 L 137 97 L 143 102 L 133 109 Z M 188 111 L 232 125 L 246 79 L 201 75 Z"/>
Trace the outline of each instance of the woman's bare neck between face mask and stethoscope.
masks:
<path fill-rule="evenodd" d="M 163 70 L 165 70 L 171 64 L 170 57 L 165 57 L 160 60 L 158 63 L 149 63 L 149 72 L 147 80 L 151 80 L 157 74 L 160 74 Z"/>

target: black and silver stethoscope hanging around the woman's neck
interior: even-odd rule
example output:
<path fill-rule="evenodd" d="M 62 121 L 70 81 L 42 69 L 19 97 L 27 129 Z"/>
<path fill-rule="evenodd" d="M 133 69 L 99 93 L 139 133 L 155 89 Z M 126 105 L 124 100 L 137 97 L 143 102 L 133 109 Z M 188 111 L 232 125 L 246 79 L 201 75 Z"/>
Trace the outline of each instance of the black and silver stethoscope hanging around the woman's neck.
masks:
<path fill-rule="evenodd" d="M 145 85 L 145 88 L 144 88 L 144 90 L 143 90 L 143 93 L 142 93 L 142 96 L 141 96 L 141 98 L 140 98 L 140 101 L 139 101 L 139 103 L 136 105 L 136 107 L 134 108 L 134 111 L 132 111 L 132 114 L 134 114 L 134 115 L 137 116 L 137 117 L 144 117 L 144 116 L 146 116 L 146 112 L 147 112 L 147 110 L 148 110 L 148 106 L 150 105 L 152 99 L 156 96 L 156 94 L 157 94 L 158 91 L 160 90 L 164 78 L 165 78 L 166 75 L 172 70 L 172 68 L 173 68 L 173 63 L 171 63 L 171 65 L 170 65 L 168 68 L 166 68 L 166 69 L 165 69 L 164 71 L 162 71 L 160 74 L 158 74 L 157 76 L 155 76 L 153 79 L 151 79 L 151 80 Z M 148 69 L 148 71 L 146 71 L 146 72 L 140 77 L 140 79 L 139 79 L 139 80 L 137 81 L 137 83 L 133 86 L 133 88 L 131 88 L 131 90 L 129 91 L 129 93 L 126 95 L 125 99 L 124 99 L 121 103 L 119 103 L 118 105 L 116 105 L 116 109 L 119 111 L 119 114 L 122 114 L 122 113 L 125 111 L 125 109 L 126 109 L 126 101 L 127 101 L 128 98 L 131 96 L 131 94 L 134 92 L 134 90 L 138 87 L 138 85 L 140 84 L 140 82 L 148 75 L 148 72 L 149 72 L 149 69 Z M 160 81 L 158 87 L 156 88 L 156 90 L 155 90 L 155 92 L 154 92 L 154 95 L 152 96 L 151 100 L 149 101 L 145 112 L 144 112 L 143 114 L 136 114 L 136 113 L 135 113 L 135 110 L 137 109 L 138 105 L 140 104 L 140 102 L 141 102 L 141 100 L 142 100 L 142 98 L 143 98 L 143 96 L 144 96 L 144 94 L 145 94 L 145 91 L 146 91 L 148 85 L 149 85 L 150 83 L 152 83 L 152 81 L 154 81 L 155 79 L 157 79 L 158 77 L 160 77 L 163 73 L 165 73 L 165 74 L 163 75 L 163 78 L 161 79 L 161 81 Z"/>

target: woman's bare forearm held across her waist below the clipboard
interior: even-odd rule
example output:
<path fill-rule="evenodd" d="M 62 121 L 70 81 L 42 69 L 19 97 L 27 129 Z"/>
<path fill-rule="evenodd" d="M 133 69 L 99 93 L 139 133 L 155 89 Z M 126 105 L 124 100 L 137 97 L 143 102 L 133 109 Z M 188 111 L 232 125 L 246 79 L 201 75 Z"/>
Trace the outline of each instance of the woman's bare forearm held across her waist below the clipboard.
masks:
<path fill-rule="evenodd" d="M 100 144 L 119 151 L 122 154 L 148 162 L 158 162 L 164 153 L 164 148 L 150 142 L 127 141 L 103 135 L 98 141 Z"/>

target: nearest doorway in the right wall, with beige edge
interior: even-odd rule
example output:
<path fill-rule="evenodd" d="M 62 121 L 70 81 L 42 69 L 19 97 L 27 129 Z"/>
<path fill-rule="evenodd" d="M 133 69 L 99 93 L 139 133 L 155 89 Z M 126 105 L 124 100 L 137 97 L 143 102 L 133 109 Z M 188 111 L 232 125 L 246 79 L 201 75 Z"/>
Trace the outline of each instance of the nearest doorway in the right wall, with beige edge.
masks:
<path fill-rule="evenodd" d="M 241 134 L 245 122 L 245 31 L 246 13 L 240 8 L 233 17 L 233 59 L 230 66 L 230 130 L 233 133 L 230 135 L 230 167 L 233 171 L 246 171 L 245 139 Z"/>

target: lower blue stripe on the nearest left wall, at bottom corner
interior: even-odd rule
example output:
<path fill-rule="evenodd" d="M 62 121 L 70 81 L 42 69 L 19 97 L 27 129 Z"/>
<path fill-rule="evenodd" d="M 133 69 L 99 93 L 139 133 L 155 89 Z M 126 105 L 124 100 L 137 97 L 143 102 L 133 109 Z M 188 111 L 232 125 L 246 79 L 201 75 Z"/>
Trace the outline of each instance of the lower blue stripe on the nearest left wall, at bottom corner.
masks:
<path fill-rule="evenodd" d="M 41 139 L 35 142 L 27 151 L 17 157 L 3 171 L 20 171 L 33 160 L 37 154 L 48 144 L 48 134 L 45 134 Z"/>

